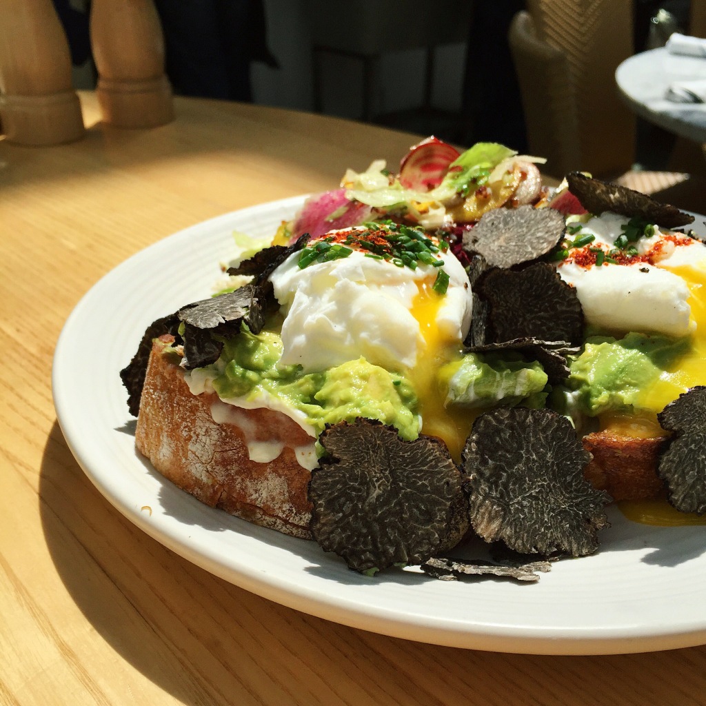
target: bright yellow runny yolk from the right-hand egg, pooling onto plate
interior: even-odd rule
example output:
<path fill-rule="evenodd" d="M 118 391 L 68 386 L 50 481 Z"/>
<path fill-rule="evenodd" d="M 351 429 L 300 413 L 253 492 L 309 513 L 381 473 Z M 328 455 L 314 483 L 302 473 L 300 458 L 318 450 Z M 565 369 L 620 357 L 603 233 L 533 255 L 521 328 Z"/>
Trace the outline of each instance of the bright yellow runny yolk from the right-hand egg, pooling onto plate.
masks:
<path fill-rule="evenodd" d="M 657 422 L 657 412 L 669 405 L 669 402 L 685 393 L 695 385 L 706 384 L 706 264 L 701 262 L 696 265 L 682 265 L 678 268 L 669 268 L 671 272 L 683 280 L 689 287 L 690 297 L 688 304 L 691 306 L 691 318 L 696 323 L 692 345 L 685 355 L 679 357 L 674 366 L 659 376 L 659 380 L 640 395 L 638 404 L 643 409 L 650 409 L 654 413 L 634 419 L 630 424 L 620 417 L 615 419 L 602 419 L 607 429 L 616 433 L 626 433 L 630 436 L 642 438 L 663 436 Z M 628 424 L 629 426 L 624 426 Z M 657 425 L 657 426 L 655 426 Z M 641 431 L 641 433 L 640 433 Z M 680 513 L 664 500 L 621 501 L 618 503 L 621 513 L 628 520 L 640 522 L 643 525 L 657 525 L 659 527 L 682 527 L 684 525 L 706 525 L 706 517 L 694 513 Z"/>

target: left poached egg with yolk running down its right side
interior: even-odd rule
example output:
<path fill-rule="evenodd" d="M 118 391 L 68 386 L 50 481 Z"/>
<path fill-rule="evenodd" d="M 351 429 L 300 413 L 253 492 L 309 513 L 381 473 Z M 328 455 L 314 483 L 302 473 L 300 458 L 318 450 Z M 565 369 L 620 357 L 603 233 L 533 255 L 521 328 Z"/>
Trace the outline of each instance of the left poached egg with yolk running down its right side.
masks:
<path fill-rule="evenodd" d="M 349 242 L 368 230 L 342 229 L 325 238 Z M 345 258 L 303 268 L 299 251 L 270 275 L 285 316 L 280 362 L 314 372 L 364 357 L 404 374 L 419 399 L 421 431 L 443 438 L 460 455 L 472 421 L 445 409 L 437 376 L 443 364 L 460 357 L 469 330 L 472 296 L 465 269 L 443 247 L 434 254 L 440 267 L 420 262 L 414 269 L 351 249 Z M 448 275 L 443 293 L 434 288 L 440 269 Z"/>

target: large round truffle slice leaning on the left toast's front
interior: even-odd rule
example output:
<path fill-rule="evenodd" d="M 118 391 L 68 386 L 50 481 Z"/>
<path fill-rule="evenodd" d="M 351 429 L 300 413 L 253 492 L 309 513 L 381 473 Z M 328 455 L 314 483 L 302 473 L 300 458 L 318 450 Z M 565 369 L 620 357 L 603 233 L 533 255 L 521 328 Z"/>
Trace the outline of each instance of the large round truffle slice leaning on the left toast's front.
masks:
<path fill-rule="evenodd" d="M 327 455 L 311 472 L 311 534 L 349 568 L 419 564 L 465 531 L 461 472 L 443 442 L 405 441 L 369 419 L 330 426 L 319 441 Z"/>

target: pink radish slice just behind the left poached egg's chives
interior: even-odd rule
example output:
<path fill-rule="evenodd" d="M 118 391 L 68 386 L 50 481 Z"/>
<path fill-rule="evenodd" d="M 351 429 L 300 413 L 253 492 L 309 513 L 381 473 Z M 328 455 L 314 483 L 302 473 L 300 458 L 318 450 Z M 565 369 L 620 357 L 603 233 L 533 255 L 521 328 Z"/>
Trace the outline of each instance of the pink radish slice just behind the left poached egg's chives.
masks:
<path fill-rule="evenodd" d="M 310 196 L 294 218 L 291 242 L 309 233 L 312 238 L 318 238 L 330 230 L 348 228 L 360 225 L 370 220 L 372 208 L 366 203 L 350 201 L 346 198 L 345 189 L 325 191 L 316 196 Z"/>

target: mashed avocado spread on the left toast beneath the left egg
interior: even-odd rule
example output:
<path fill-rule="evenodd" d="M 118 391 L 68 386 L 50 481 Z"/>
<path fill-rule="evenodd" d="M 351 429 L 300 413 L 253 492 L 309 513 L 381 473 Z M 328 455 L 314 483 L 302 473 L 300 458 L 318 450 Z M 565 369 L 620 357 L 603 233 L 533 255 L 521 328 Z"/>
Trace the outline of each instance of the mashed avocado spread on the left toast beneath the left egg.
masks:
<path fill-rule="evenodd" d="M 406 378 L 364 358 L 304 374 L 301 366 L 278 365 L 281 354 L 278 333 L 253 335 L 244 327 L 225 341 L 213 388 L 223 399 L 272 395 L 303 412 L 318 432 L 326 424 L 366 417 L 395 426 L 402 438 L 419 436 L 417 397 Z"/>

